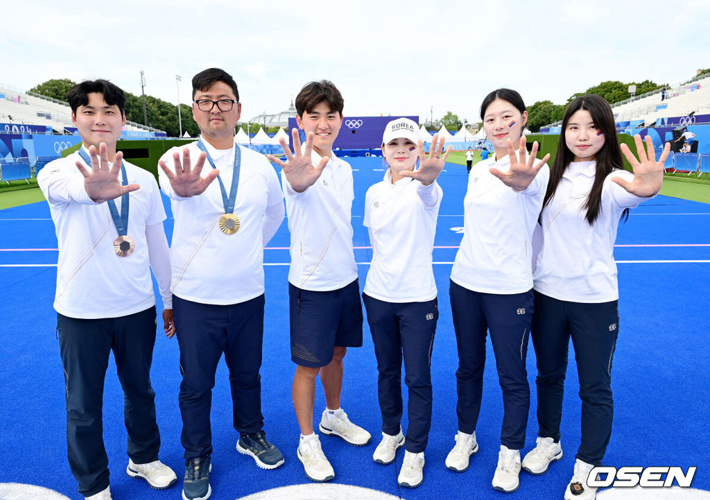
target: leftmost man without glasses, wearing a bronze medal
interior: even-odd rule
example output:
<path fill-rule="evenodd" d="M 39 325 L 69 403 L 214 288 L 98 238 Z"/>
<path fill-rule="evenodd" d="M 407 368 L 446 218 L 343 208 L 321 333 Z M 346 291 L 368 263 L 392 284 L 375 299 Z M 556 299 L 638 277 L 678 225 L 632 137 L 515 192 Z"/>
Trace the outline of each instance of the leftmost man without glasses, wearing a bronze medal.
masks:
<path fill-rule="evenodd" d="M 48 164 L 37 180 L 59 246 L 54 308 L 65 372 L 70 469 L 82 495 L 106 500 L 111 491 L 102 401 L 111 351 L 125 396 L 126 473 L 155 489 L 177 481 L 175 472 L 158 460 L 160 433 L 150 378 L 156 320 L 151 268 L 165 308 L 163 329 L 168 337 L 175 334 L 170 255 L 155 178 L 116 152 L 126 124 L 124 92 L 106 80 L 86 81 L 72 87 L 67 100 L 82 146 Z"/>

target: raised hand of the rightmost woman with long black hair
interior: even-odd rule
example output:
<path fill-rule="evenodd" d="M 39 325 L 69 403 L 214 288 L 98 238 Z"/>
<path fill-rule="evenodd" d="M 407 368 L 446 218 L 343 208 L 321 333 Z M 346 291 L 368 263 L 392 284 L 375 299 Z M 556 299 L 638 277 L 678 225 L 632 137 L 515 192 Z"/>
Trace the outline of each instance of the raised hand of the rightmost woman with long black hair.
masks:
<path fill-rule="evenodd" d="M 621 152 L 633 168 L 633 181 L 628 182 L 621 177 L 614 177 L 611 180 L 632 195 L 643 198 L 655 196 L 663 185 L 663 170 L 665 170 L 664 164 L 670 153 L 670 143 L 665 143 L 661 157 L 659 161 L 656 161 L 656 153 L 650 136 L 646 136 L 646 151 L 643 149 L 641 136 L 633 136 L 633 140 L 636 143 L 638 159 L 633 156 L 626 144 L 621 144 Z"/>

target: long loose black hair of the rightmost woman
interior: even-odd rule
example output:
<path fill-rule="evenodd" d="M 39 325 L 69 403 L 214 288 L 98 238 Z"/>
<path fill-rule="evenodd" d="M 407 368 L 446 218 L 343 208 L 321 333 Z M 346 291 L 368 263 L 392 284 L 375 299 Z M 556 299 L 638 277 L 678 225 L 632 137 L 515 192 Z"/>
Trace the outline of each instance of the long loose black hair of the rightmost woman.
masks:
<path fill-rule="evenodd" d="M 616 138 L 616 124 L 614 115 L 611 112 L 611 106 L 606 102 L 606 99 L 595 94 L 586 94 L 577 97 L 567 105 L 562 118 L 562 131 L 559 134 L 559 144 L 557 145 L 557 156 L 555 162 L 550 168 L 550 182 L 547 184 L 547 192 L 545 193 L 545 201 L 542 202 L 544 208 L 555 195 L 557 185 L 562 179 L 564 170 L 567 170 L 569 163 L 574 160 L 574 153 L 567 148 L 565 141 L 565 131 L 567 124 L 572 115 L 584 109 L 591 114 L 591 119 L 594 121 L 594 126 L 598 131 L 604 134 L 604 145 L 596 153 L 596 172 L 594 173 L 594 183 L 591 185 L 589 196 L 586 197 L 584 208 L 586 216 L 584 217 L 589 225 L 594 224 L 594 221 L 599 217 L 601 211 L 601 190 L 603 188 L 604 179 L 614 170 L 623 169 L 623 159 L 621 156 L 621 148 L 619 147 Z M 628 209 L 624 210 L 624 214 L 628 217 Z"/>

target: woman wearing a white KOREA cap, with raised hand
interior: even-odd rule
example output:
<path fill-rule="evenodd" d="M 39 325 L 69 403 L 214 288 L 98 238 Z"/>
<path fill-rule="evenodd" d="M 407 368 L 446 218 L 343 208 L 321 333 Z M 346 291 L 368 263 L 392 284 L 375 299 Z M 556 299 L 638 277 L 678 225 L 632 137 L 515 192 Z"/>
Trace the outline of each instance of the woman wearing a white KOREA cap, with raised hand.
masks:
<path fill-rule="evenodd" d="M 432 416 L 430 362 L 439 317 L 432 249 L 442 189 L 436 178 L 451 147 L 432 138 L 429 158 L 414 121 L 390 121 L 382 152 L 389 166 L 385 178 L 367 190 L 364 225 L 372 243 L 372 263 L 362 294 L 377 357 L 382 442 L 373 454 L 391 464 L 406 447 L 398 483 L 422 484 L 424 450 Z M 419 168 L 415 164 L 419 160 Z M 413 272 L 415 270 L 416 272 Z M 401 371 L 409 388 L 407 437 L 402 433 Z"/>

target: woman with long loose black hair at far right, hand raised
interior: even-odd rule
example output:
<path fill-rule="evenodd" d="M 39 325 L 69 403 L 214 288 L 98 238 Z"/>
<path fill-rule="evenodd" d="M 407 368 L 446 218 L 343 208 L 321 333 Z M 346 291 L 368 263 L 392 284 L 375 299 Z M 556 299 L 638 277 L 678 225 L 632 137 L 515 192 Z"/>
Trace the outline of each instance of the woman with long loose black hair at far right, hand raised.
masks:
<path fill-rule="evenodd" d="M 611 436 L 611 362 L 618 337 L 618 284 L 613 244 L 628 210 L 653 197 L 663 183 L 660 161 L 646 137 L 635 136 L 638 158 L 619 146 L 611 107 L 588 94 L 569 103 L 557 156 L 540 214 L 543 244 L 533 275 L 532 344 L 537 357 L 537 446 L 523 469 L 547 471 L 562 458 L 559 423 L 569 338 L 579 374 L 581 444 L 565 499 L 588 500 L 596 488 L 586 479 L 601 464 Z M 623 169 L 622 152 L 633 168 Z"/>

